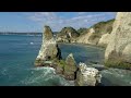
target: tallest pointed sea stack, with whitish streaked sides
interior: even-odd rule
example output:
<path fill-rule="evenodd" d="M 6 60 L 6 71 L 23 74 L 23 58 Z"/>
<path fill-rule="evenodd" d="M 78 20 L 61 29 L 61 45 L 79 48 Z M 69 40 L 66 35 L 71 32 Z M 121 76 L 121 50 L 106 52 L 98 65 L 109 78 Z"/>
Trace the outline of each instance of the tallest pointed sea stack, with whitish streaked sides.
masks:
<path fill-rule="evenodd" d="M 53 38 L 52 30 L 49 26 L 45 26 L 43 33 L 43 44 L 39 53 L 36 58 L 35 65 L 44 66 L 47 61 L 51 63 L 52 60 L 60 59 L 61 51 Z"/>

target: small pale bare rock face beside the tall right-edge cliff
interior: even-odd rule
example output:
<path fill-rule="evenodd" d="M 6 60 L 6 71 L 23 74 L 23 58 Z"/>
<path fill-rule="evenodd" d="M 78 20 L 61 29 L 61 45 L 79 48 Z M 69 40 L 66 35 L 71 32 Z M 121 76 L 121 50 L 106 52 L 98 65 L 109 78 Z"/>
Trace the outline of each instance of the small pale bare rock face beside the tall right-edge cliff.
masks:
<path fill-rule="evenodd" d="M 109 35 L 110 34 L 104 34 L 98 41 L 98 46 L 107 46 L 109 44 L 109 40 L 110 40 Z"/>

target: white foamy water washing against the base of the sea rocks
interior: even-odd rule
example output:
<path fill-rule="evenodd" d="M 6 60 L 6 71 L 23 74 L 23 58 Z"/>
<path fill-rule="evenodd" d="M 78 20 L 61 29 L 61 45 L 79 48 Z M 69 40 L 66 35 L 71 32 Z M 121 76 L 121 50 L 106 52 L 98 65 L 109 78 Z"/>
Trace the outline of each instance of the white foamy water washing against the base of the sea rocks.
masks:
<path fill-rule="evenodd" d="M 52 68 L 31 69 L 32 75 L 22 81 L 27 86 L 74 86 L 73 81 L 66 81 L 56 74 Z"/>

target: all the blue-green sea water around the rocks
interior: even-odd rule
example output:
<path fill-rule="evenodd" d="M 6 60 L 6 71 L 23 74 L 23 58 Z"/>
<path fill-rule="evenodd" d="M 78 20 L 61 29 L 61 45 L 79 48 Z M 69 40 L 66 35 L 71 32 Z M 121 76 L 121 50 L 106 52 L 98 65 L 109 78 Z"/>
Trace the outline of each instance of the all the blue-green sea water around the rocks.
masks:
<path fill-rule="evenodd" d="M 34 61 L 41 45 L 41 36 L 0 35 L 0 86 L 73 86 L 55 74 L 53 69 L 35 68 Z M 63 59 L 74 54 L 76 62 L 103 63 L 104 50 L 83 45 L 59 45 Z M 131 71 L 109 69 L 102 71 L 105 86 L 131 86 Z"/>

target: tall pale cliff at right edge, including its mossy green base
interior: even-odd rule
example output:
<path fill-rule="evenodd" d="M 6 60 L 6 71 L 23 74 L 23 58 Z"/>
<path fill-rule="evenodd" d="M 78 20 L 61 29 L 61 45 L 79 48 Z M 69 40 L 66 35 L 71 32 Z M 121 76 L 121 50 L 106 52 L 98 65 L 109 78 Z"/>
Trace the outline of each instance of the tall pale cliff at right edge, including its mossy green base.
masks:
<path fill-rule="evenodd" d="M 108 66 L 131 69 L 131 12 L 118 12 L 105 52 Z"/>

